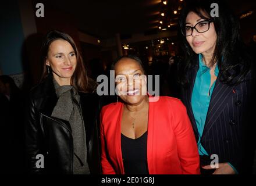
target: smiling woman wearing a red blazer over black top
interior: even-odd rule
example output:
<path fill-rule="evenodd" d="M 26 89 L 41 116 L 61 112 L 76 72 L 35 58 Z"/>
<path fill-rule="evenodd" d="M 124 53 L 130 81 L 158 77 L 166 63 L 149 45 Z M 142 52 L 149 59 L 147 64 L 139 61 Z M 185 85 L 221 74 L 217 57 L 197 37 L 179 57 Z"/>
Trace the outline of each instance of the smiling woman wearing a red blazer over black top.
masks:
<path fill-rule="evenodd" d="M 199 174 L 199 156 L 179 99 L 147 94 L 141 60 L 113 63 L 120 101 L 102 108 L 103 174 Z"/>

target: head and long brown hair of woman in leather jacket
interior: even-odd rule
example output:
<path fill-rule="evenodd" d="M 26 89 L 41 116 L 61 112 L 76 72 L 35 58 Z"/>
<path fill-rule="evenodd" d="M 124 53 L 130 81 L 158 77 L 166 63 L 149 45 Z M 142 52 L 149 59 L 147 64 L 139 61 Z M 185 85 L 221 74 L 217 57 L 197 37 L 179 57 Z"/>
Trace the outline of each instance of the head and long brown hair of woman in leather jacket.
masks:
<path fill-rule="evenodd" d="M 88 78 L 76 44 L 65 33 L 50 31 L 46 35 L 41 48 L 41 63 L 41 81 L 52 72 L 57 81 L 65 81 L 65 84 L 70 84 L 81 92 L 94 91 L 97 85 Z"/>

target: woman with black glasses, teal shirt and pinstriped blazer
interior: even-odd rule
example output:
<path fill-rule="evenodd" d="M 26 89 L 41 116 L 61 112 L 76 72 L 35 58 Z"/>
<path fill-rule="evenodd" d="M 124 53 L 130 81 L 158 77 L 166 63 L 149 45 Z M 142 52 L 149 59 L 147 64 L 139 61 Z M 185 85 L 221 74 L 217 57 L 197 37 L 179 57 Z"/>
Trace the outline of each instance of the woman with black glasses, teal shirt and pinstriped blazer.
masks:
<path fill-rule="evenodd" d="M 239 22 L 223 1 L 191 1 L 179 27 L 185 54 L 182 101 L 197 140 L 201 173 L 244 173 L 253 147 L 250 140 L 245 146 L 245 137 L 255 77 Z"/>

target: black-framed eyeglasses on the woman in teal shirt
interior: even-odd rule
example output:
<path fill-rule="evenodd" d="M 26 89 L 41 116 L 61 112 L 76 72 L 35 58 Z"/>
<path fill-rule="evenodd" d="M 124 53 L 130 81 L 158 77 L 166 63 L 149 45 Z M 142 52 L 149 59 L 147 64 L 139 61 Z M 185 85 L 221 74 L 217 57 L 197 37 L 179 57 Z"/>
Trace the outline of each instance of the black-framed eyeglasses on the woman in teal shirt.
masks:
<path fill-rule="evenodd" d="M 184 28 L 182 28 L 182 34 L 184 36 L 190 36 L 193 34 L 193 30 L 195 29 L 198 33 L 205 33 L 206 31 L 209 30 L 210 28 L 210 24 L 214 22 L 213 20 L 203 20 L 201 22 L 198 22 L 197 24 L 195 24 L 194 27 L 190 27 L 190 26 L 185 26 Z"/>

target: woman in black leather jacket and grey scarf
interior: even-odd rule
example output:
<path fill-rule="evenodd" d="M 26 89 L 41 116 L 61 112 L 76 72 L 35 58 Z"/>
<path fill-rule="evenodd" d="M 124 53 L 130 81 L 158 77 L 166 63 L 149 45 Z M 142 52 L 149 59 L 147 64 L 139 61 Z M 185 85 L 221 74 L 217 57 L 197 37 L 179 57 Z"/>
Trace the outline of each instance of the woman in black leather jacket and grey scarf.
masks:
<path fill-rule="evenodd" d="M 42 44 L 42 82 L 30 92 L 29 171 L 99 174 L 99 99 L 73 39 L 50 31 Z"/>

